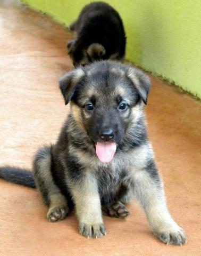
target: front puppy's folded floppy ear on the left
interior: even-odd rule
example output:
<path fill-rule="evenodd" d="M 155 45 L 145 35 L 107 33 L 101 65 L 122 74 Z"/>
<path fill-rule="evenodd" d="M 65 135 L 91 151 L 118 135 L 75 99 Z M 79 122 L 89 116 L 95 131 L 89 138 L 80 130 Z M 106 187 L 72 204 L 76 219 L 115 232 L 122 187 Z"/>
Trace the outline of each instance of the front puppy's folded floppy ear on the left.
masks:
<path fill-rule="evenodd" d="M 74 69 L 69 73 L 65 74 L 59 81 L 60 90 L 63 94 L 65 105 L 72 99 L 74 92 L 77 89 L 78 83 L 81 82 L 85 72 L 82 68 Z"/>

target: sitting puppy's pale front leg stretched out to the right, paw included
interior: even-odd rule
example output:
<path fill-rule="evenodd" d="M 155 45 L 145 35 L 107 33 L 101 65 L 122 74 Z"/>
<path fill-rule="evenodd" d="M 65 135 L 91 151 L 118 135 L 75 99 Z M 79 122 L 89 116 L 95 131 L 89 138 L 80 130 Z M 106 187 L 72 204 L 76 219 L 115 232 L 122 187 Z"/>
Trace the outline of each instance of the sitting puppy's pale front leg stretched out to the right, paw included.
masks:
<path fill-rule="evenodd" d="M 162 181 L 155 164 L 135 173 L 134 189 L 137 201 L 143 206 L 154 235 L 166 244 L 183 244 L 186 235 L 167 210 Z"/>

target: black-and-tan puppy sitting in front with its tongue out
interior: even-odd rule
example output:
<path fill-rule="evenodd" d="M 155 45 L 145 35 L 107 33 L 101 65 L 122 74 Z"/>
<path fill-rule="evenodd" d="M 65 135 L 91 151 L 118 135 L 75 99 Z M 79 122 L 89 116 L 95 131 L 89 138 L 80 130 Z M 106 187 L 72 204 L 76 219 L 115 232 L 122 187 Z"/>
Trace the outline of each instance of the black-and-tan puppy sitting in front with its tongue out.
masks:
<path fill-rule="evenodd" d="M 74 204 L 83 236 L 105 235 L 102 211 L 125 218 L 124 204 L 135 197 L 155 236 L 166 244 L 184 243 L 185 232 L 167 210 L 146 135 L 146 74 L 118 62 L 94 62 L 64 75 L 60 89 L 65 104 L 71 102 L 70 114 L 56 144 L 36 153 L 35 182 L 30 172 L 10 167 L 1 167 L 0 176 L 36 185 L 49 221 L 64 219 Z"/>

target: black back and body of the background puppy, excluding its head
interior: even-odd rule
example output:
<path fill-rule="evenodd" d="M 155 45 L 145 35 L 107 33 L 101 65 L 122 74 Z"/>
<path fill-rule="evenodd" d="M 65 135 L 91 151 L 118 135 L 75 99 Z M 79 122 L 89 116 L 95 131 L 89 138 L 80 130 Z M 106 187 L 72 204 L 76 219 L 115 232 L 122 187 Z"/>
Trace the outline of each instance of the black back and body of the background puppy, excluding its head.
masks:
<path fill-rule="evenodd" d="M 115 52 L 120 58 L 125 53 L 125 33 L 119 13 L 112 6 L 95 2 L 86 5 L 80 12 L 77 21 L 73 24 L 80 41 L 85 45 L 101 43 L 108 55 Z"/>

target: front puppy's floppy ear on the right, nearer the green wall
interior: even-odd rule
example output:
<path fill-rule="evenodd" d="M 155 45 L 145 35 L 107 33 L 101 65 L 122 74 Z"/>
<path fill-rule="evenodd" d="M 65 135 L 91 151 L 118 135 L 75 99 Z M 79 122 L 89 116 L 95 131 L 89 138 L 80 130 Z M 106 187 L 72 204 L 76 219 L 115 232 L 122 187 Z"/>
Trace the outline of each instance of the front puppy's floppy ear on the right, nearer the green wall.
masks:
<path fill-rule="evenodd" d="M 136 87 L 140 98 L 147 104 L 147 95 L 150 87 L 149 77 L 143 71 L 135 67 L 130 67 L 128 69 L 127 76 Z"/>

